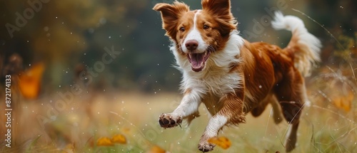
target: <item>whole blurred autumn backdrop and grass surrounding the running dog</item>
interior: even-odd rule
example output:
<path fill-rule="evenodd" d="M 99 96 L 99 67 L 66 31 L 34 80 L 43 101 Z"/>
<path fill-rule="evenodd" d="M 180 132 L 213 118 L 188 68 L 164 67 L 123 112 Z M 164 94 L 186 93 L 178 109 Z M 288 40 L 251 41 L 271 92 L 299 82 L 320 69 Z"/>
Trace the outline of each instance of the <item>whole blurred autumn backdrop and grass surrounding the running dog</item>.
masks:
<path fill-rule="evenodd" d="M 189 126 L 159 126 L 159 115 L 181 101 L 181 74 L 153 10 L 161 2 L 172 1 L 1 3 L 0 153 L 199 152 L 209 119 L 203 105 Z M 271 28 L 273 11 L 297 16 L 321 40 L 293 153 L 357 152 L 357 1 L 231 2 L 247 41 L 288 45 L 291 32 Z M 213 153 L 285 152 L 289 125 L 276 125 L 271 112 L 268 105 L 260 117 L 224 127 L 219 137 L 231 145 Z"/>

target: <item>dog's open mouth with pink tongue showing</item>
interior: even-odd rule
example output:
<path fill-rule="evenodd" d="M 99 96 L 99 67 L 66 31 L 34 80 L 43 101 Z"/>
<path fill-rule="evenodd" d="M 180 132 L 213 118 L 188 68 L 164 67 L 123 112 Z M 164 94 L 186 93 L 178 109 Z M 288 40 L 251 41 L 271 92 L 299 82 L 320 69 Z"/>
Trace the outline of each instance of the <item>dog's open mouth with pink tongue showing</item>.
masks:
<path fill-rule="evenodd" d="M 210 54 L 210 51 L 205 51 L 204 53 L 188 53 L 187 58 L 191 63 L 191 69 L 195 72 L 201 71 Z"/>

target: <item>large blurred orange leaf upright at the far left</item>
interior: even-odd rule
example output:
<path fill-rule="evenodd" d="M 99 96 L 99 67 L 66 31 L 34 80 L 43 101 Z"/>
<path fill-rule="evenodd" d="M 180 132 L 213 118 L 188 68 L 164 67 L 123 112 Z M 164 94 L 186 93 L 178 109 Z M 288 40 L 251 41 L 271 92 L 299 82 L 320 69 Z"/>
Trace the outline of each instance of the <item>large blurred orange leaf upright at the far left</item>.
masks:
<path fill-rule="evenodd" d="M 41 88 L 44 63 L 36 63 L 29 70 L 19 75 L 19 89 L 26 99 L 36 99 Z"/>

